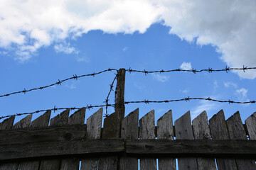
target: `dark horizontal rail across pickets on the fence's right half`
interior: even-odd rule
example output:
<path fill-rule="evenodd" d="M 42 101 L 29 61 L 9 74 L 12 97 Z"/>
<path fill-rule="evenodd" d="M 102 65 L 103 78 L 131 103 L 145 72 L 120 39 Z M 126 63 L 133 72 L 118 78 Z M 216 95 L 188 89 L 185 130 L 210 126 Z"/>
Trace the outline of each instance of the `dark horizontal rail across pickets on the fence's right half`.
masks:
<path fill-rule="evenodd" d="M 137 157 L 250 157 L 256 140 L 126 140 L 126 152 Z"/>

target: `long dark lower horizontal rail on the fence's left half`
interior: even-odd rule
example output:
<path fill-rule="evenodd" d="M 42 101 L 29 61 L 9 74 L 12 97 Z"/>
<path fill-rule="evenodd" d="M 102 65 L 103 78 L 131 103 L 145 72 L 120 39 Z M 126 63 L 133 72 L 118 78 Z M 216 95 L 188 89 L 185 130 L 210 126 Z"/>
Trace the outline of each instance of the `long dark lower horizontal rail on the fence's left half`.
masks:
<path fill-rule="evenodd" d="M 124 140 L 67 140 L 33 142 L 23 145 L 0 145 L 0 161 L 38 157 L 56 157 L 83 154 L 115 154 L 124 152 Z"/>

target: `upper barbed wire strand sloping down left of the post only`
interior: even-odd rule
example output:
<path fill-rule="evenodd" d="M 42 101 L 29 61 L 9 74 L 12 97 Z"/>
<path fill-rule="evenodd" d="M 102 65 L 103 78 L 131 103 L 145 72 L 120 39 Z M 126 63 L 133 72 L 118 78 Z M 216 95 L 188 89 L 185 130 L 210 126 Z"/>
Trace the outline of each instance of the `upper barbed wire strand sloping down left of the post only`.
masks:
<path fill-rule="evenodd" d="M 73 77 L 69 77 L 69 78 L 67 78 L 67 79 L 63 79 L 63 80 L 58 79 L 58 81 L 57 81 L 56 83 L 54 83 L 54 84 L 50 84 L 50 85 L 47 85 L 47 86 L 41 86 L 41 87 L 38 87 L 38 88 L 29 89 L 29 90 L 23 89 L 23 91 L 16 91 L 16 92 L 12 92 L 12 93 L 10 93 L 10 94 L 1 95 L 0 98 L 1 98 L 1 97 L 6 97 L 6 96 L 10 96 L 10 95 L 13 95 L 13 94 L 21 94 L 21 93 L 22 93 L 22 94 L 26 94 L 26 93 L 29 92 L 29 91 L 42 90 L 42 89 L 46 89 L 46 88 L 48 88 L 48 87 L 50 87 L 50 86 L 61 85 L 63 82 L 68 81 L 68 80 L 70 80 L 70 79 L 78 80 L 78 79 L 81 78 L 81 77 L 95 77 L 95 75 L 97 75 L 97 74 L 102 74 L 102 73 L 104 73 L 104 72 L 111 72 L 111 71 L 113 71 L 113 70 L 114 70 L 114 71 L 117 71 L 117 69 L 105 69 L 105 70 L 103 70 L 103 71 L 101 71 L 101 72 L 94 72 L 94 73 L 92 73 L 92 74 L 83 74 L 83 75 L 80 75 L 80 76 L 78 76 L 77 74 L 75 74 L 75 75 L 73 75 Z"/>

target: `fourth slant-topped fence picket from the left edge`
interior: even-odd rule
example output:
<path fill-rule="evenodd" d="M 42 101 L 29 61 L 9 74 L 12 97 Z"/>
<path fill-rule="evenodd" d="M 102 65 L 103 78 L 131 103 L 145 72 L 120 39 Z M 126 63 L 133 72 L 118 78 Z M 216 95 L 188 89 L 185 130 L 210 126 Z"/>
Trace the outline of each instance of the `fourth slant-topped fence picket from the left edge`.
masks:
<path fill-rule="evenodd" d="M 68 116 L 70 109 L 63 111 L 62 113 L 56 115 L 54 118 L 50 119 L 50 126 L 61 126 L 68 124 Z M 45 159 L 41 161 L 40 170 L 56 170 L 60 169 L 60 159 Z"/>

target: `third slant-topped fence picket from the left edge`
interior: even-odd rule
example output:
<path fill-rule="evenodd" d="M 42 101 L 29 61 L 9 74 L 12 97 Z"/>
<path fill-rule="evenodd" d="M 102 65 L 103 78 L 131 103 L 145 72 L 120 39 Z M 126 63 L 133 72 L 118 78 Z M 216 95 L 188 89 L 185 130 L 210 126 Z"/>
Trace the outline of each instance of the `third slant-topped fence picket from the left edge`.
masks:
<path fill-rule="evenodd" d="M 33 127 L 46 127 L 48 126 L 50 120 L 50 111 L 46 111 L 43 115 L 36 118 L 36 120 L 33 120 L 31 122 L 31 128 Z M 19 170 L 33 170 L 39 168 L 39 161 L 31 161 L 31 162 L 21 162 L 19 166 Z"/>

